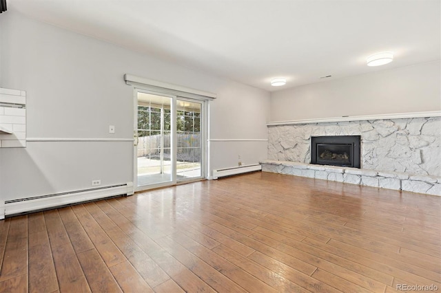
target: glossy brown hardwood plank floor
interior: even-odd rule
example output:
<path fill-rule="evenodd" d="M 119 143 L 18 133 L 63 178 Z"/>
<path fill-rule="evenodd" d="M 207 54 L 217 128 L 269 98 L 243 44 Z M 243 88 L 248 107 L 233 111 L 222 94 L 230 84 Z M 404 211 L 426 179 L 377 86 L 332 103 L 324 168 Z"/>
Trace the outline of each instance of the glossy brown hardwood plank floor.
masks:
<path fill-rule="evenodd" d="M 196 182 L 0 221 L 0 292 L 441 290 L 440 214 L 274 173 Z"/>

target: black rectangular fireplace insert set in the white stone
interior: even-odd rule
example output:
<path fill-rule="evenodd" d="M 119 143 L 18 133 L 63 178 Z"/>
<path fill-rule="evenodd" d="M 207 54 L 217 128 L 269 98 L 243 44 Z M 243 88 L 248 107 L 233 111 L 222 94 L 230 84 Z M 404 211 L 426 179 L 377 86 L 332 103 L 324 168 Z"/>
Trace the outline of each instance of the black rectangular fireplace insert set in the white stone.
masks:
<path fill-rule="evenodd" d="M 360 135 L 311 136 L 311 164 L 360 168 Z"/>

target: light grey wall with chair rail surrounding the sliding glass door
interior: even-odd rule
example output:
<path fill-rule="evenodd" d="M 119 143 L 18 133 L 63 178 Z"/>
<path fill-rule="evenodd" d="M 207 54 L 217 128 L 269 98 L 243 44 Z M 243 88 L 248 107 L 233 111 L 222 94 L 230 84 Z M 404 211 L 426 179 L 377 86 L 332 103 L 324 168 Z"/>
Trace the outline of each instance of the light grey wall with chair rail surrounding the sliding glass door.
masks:
<path fill-rule="evenodd" d="M 246 144 L 247 164 L 267 156 L 269 93 L 231 80 L 165 63 L 8 10 L 0 17 L 0 86 L 27 91 L 28 138 L 130 139 L 132 87 L 123 75 L 218 94 L 210 102 L 212 169 L 236 166 Z M 112 124 L 116 131 L 108 133 Z M 132 142 L 29 141 L 24 149 L 0 150 L 0 196 L 17 199 L 133 180 Z M 234 157 L 233 157 L 234 156 Z"/>

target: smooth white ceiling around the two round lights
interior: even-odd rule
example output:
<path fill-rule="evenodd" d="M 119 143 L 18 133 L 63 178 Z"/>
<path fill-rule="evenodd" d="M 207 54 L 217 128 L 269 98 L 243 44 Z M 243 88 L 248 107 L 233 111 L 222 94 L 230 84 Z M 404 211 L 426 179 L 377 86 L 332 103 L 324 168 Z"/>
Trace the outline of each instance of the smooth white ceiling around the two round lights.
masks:
<path fill-rule="evenodd" d="M 440 0 L 8 0 L 8 10 L 274 91 L 440 60 Z M 394 52 L 381 67 L 366 58 Z M 331 75 L 331 78 L 320 79 Z M 271 78 L 287 85 L 271 87 Z"/>

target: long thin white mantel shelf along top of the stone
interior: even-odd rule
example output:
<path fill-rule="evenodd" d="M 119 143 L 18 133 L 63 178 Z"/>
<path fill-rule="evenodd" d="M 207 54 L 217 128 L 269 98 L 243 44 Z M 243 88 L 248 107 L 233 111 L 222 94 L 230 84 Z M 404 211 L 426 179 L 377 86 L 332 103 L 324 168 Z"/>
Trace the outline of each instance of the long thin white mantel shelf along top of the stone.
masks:
<path fill-rule="evenodd" d="M 427 111 L 427 112 L 393 113 L 393 114 L 366 115 L 366 116 L 342 116 L 342 117 L 331 117 L 331 118 L 273 121 L 273 122 L 268 122 L 267 126 L 325 123 L 325 122 L 361 121 L 361 120 L 422 118 L 422 117 L 439 117 L 439 116 L 441 116 L 441 111 Z"/>

